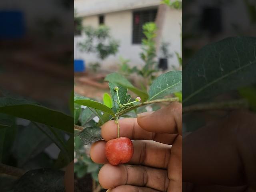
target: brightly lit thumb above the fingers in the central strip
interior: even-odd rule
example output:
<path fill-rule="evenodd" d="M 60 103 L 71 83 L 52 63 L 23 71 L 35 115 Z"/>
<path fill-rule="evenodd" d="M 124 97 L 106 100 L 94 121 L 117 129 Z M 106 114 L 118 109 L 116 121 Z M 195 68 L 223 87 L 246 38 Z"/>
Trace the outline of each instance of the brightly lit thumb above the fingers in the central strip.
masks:
<path fill-rule="evenodd" d="M 182 104 L 174 102 L 155 112 L 138 114 L 137 122 L 149 132 L 182 135 Z"/>

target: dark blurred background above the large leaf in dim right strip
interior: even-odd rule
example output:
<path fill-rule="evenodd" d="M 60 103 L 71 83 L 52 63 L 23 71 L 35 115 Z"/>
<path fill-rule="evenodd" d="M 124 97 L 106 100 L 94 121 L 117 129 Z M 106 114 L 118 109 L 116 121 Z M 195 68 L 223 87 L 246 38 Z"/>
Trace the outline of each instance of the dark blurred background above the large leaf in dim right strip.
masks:
<path fill-rule="evenodd" d="M 184 67 L 203 46 L 231 36 L 255 36 L 254 0 L 183 0 Z"/>

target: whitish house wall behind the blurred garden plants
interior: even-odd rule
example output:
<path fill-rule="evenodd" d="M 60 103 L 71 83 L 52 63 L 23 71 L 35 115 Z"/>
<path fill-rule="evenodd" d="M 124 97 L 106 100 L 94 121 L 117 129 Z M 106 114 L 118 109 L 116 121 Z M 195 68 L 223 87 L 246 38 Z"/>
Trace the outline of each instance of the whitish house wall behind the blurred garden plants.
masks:
<path fill-rule="evenodd" d="M 182 22 L 182 12 L 179 10 L 169 9 L 163 29 L 163 40 L 170 42 L 169 50 L 173 57 L 169 59 L 169 68 L 178 66 L 178 59 L 174 52 L 181 52 L 180 24 Z M 143 66 L 140 59 L 141 45 L 132 44 L 132 10 L 112 12 L 104 14 L 104 23 L 111 29 L 112 36 L 120 41 L 120 47 L 116 56 L 109 56 L 102 61 L 102 69 L 116 69 L 120 63 L 119 57 L 130 59 L 130 66 Z M 98 16 L 86 16 L 83 19 L 83 25 L 98 26 Z M 85 36 L 75 37 L 75 43 L 84 39 Z M 100 61 L 96 54 L 75 51 L 75 58 L 84 59 L 87 64 Z"/>

